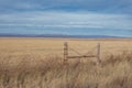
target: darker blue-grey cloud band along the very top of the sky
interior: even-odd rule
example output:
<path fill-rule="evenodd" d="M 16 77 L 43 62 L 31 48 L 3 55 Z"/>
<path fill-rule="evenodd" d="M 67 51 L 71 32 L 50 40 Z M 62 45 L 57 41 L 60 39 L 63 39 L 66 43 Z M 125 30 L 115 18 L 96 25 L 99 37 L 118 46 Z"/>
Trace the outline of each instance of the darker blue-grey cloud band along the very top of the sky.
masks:
<path fill-rule="evenodd" d="M 0 13 L 12 11 L 91 11 L 131 14 L 132 0 L 0 0 Z"/>

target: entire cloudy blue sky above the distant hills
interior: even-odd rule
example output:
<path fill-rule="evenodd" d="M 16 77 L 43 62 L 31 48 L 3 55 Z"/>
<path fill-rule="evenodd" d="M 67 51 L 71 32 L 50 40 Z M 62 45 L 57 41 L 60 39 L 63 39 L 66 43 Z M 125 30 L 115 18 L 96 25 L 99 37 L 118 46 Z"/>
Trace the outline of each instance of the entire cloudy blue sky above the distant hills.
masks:
<path fill-rule="evenodd" d="M 132 0 L 0 0 L 0 34 L 132 37 Z"/>

